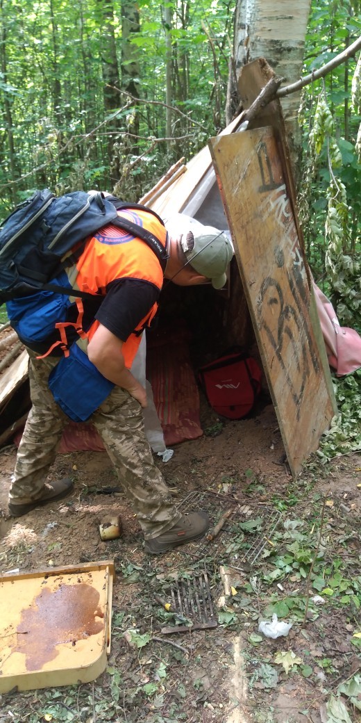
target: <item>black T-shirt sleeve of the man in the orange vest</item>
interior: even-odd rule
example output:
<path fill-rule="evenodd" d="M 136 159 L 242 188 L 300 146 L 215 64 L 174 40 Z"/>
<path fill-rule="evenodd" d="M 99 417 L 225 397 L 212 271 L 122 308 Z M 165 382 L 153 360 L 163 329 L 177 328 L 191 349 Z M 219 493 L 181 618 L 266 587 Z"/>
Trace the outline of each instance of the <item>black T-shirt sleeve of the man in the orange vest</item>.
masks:
<path fill-rule="evenodd" d="M 149 281 L 112 281 L 95 318 L 121 341 L 126 341 L 157 301 L 160 290 Z"/>

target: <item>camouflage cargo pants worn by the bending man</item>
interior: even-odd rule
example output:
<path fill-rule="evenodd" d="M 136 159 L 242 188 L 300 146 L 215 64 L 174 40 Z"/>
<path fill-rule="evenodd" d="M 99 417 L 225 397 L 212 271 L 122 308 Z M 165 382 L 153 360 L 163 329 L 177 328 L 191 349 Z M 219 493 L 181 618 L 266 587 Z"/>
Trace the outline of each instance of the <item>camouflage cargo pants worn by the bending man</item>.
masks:
<path fill-rule="evenodd" d="M 29 351 L 32 408 L 17 452 L 9 499 L 25 504 L 41 495 L 68 418 L 48 388 L 48 375 L 58 359 L 36 359 Z M 79 393 L 82 393 L 79 390 Z M 92 414 L 131 508 L 146 539 L 168 531 L 180 518 L 157 469 L 144 434 L 142 408 L 131 395 L 114 387 Z"/>

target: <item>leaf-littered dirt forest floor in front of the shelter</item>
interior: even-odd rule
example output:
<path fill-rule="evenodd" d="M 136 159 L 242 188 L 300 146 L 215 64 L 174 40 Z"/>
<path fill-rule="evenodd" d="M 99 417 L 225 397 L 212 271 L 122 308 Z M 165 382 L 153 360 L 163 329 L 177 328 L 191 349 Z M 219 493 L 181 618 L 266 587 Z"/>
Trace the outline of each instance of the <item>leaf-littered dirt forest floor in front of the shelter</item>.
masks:
<path fill-rule="evenodd" d="M 105 452 L 59 454 L 52 475 L 71 474 L 73 494 L 14 520 L 6 498 L 16 449 L 0 450 L 0 572 L 103 560 L 116 568 L 105 672 L 3 694 L 1 723 L 360 720 L 361 455 L 327 467 L 315 458 L 292 480 L 271 405 L 220 422 L 203 402 L 201 424 L 203 437 L 176 445 L 168 463 L 155 460 L 181 510 L 207 510 L 212 526 L 230 514 L 211 542 L 160 557 L 144 552 Z M 99 524 L 114 515 L 122 536 L 102 542 Z M 194 602 L 197 580 L 204 598 L 185 612 L 184 590 Z M 274 614 L 292 623 L 277 639 L 258 630 Z M 196 629 L 200 620 L 217 626 Z"/>

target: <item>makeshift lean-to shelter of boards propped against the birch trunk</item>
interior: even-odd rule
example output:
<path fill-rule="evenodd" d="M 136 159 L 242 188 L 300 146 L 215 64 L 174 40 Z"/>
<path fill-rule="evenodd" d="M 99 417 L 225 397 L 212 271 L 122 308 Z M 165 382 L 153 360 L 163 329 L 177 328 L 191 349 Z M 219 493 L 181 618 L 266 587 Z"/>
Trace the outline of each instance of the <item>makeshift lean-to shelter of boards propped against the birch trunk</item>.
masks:
<path fill-rule="evenodd" d="M 240 77 L 243 108 L 251 106 L 273 75 L 262 59 L 245 66 Z M 170 388 L 188 400 L 182 418 L 188 428 L 181 429 L 183 437 L 183 422 L 170 429 L 175 437 L 166 442 L 172 444 L 202 433 L 192 416 L 192 394 L 195 400 L 198 392 L 191 366 L 211 361 L 227 346 L 251 349 L 263 365 L 290 469 L 297 474 L 329 427 L 336 403 L 297 221 L 282 111 L 272 100 L 256 118 L 250 117 L 245 124 L 244 112 L 240 114 L 209 147 L 186 165 L 176 163 L 141 199 L 163 218 L 186 213 L 229 231 L 235 247 L 222 291 L 210 285 L 178 289 L 165 284 L 160 325 L 149 334 L 147 371 L 168 429 L 177 427 L 167 415 Z M 198 341 L 192 365 L 184 351 L 189 335 Z M 171 352 L 172 382 L 164 383 Z M 23 359 L 21 364 L 17 390 L 26 384 Z M 1 413 L 6 407 L 9 393 L 2 385 Z M 6 424 L 0 443 L 9 437 L 9 419 Z"/>

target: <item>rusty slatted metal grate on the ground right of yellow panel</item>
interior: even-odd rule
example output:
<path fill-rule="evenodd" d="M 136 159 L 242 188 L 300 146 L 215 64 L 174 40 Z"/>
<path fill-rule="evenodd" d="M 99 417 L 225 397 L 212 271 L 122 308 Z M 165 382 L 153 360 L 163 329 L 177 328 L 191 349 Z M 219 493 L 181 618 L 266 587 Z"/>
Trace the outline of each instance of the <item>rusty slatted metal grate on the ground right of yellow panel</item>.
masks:
<path fill-rule="evenodd" d="M 165 594 L 172 606 L 172 612 L 181 624 L 165 625 L 161 633 L 185 633 L 189 630 L 217 628 L 206 572 L 175 580 Z M 186 623 L 182 624 L 185 619 Z"/>

